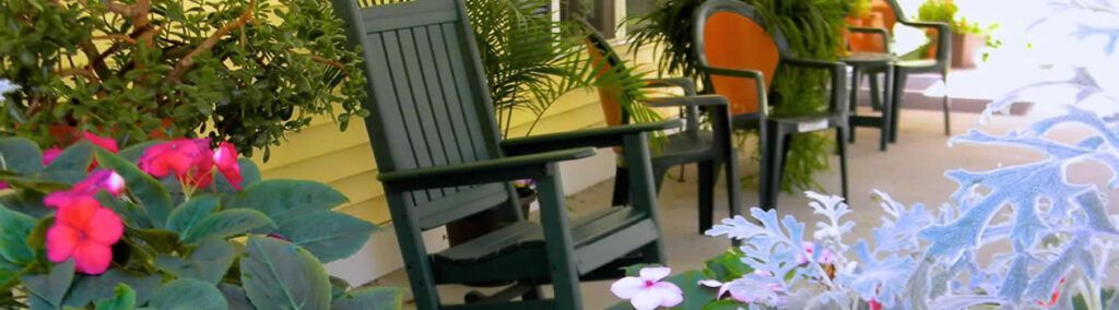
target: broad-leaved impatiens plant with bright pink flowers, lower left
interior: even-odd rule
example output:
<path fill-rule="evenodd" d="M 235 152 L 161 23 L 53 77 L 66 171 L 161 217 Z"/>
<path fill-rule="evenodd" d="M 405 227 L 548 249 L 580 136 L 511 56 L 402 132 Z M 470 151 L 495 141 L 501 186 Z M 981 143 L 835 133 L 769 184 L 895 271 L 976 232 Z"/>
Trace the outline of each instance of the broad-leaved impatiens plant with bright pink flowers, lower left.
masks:
<path fill-rule="evenodd" d="M 228 142 L 101 142 L 0 139 L 0 308 L 399 309 L 326 273 L 376 228 L 329 186 L 261 180 Z"/>

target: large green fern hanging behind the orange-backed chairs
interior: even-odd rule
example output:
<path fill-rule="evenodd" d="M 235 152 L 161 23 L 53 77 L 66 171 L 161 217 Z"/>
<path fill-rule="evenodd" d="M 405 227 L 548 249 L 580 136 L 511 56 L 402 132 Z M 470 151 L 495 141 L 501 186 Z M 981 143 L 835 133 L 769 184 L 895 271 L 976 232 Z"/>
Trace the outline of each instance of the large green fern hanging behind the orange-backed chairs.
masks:
<path fill-rule="evenodd" d="M 698 60 L 692 53 L 692 19 L 693 12 L 703 1 L 662 0 L 649 15 L 631 20 L 638 27 L 633 34 L 634 46 L 651 46 L 662 51 L 657 58 L 661 74 L 683 74 L 699 81 Z M 780 29 L 796 57 L 835 60 L 844 49 L 844 17 L 852 9 L 853 0 L 745 2 L 759 9 L 770 31 Z M 797 116 L 826 111 L 828 94 L 824 85 L 828 78 L 822 71 L 779 68 L 771 86 L 772 115 Z M 793 139 L 781 181 L 782 190 L 819 189 L 820 185 L 812 175 L 828 169 L 833 140 L 833 135 L 822 134 L 801 134 Z M 755 160 L 759 154 L 755 152 Z"/>

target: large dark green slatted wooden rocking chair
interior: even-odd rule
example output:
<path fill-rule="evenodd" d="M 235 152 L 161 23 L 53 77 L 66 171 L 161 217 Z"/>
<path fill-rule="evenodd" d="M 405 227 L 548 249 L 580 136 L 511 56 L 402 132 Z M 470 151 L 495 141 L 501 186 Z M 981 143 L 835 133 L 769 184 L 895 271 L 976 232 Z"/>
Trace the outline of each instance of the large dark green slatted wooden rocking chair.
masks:
<path fill-rule="evenodd" d="M 331 1 L 349 43 L 363 49 L 365 123 L 420 309 L 581 309 L 581 280 L 664 263 L 647 132 L 678 121 L 501 142 L 461 0 Z M 610 147 L 626 150 L 632 204 L 570 219 L 557 162 Z M 510 184 L 518 179 L 536 181 L 540 223 L 519 210 Z M 427 252 L 422 232 L 488 209 L 511 224 Z M 452 306 L 436 290 L 495 283 L 514 284 Z M 554 285 L 554 299 L 539 299 L 540 284 Z"/>

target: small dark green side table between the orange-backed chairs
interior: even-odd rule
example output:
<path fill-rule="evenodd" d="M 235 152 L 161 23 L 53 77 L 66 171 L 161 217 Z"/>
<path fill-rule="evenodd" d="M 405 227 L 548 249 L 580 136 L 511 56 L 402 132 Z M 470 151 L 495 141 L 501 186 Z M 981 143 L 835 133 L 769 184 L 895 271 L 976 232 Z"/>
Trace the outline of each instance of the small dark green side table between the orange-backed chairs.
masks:
<path fill-rule="evenodd" d="M 893 104 L 893 98 L 890 92 L 884 92 L 883 103 L 882 103 L 882 116 L 869 116 L 869 115 L 858 115 L 858 90 L 859 90 L 859 73 L 866 71 L 883 71 L 886 74 L 884 90 L 892 90 L 891 83 L 893 83 L 893 66 L 896 60 L 896 56 L 890 53 L 874 53 L 874 51 L 854 51 L 848 54 L 846 57 L 840 58 L 839 62 L 850 66 L 852 74 L 852 90 L 850 90 L 850 142 L 855 142 L 855 128 L 857 126 L 873 126 L 882 129 L 882 139 L 878 144 L 878 149 L 882 151 L 886 150 L 888 144 L 888 137 L 891 132 L 891 125 L 893 124 L 891 118 L 895 115 L 892 113 L 893 109 L 896 109 Z M 873 78 L 873 76 L 872 76 Z M 874 98 L 875 94 L 871 94 Z"/>

